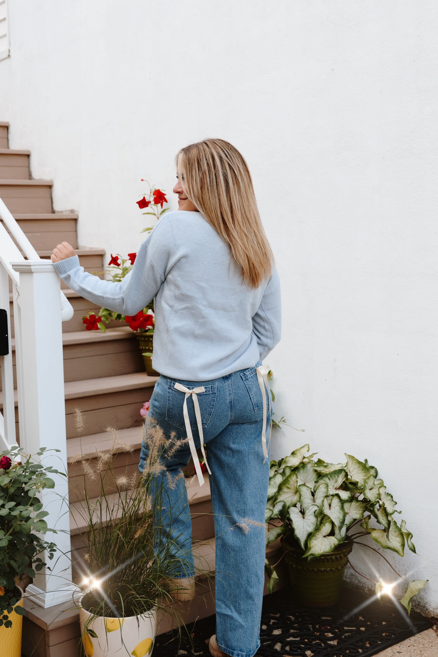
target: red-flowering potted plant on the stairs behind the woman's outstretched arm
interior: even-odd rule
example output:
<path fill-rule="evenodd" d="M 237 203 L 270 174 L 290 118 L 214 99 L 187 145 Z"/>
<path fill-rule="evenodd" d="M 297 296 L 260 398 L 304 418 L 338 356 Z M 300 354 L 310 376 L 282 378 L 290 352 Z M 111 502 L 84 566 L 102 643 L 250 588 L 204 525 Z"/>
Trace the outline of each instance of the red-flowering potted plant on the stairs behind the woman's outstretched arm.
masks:
<path fill-rule="evenodd" d="M 163 207 L 164 203 L 167 203 L 164 191 L 156 188 L 150 188 L 148 193 L 144 194 L 143 198 L 137 201 L 137 205 L 141 210 L 148 208 L 148 211 L 143 212 L 142 214 L 153 215 L 156 217 L 157 221 L 165 212 L 167 212 L 167 210 L 169 210 L 169 208 Z M 150 233 L 150 231 L 152 231 L 152 226 L 144 228 L 141 233 Z M 123 281 L 127 273 L 131 271 L 136 257 L 136 253 L 129 253 L 127 258 L 122 258 L 120 254 L 116 254 L 115 256 L 111 254 L 111 259 L 108 263 L 109 269 L 106 269 L 104 272 L 108 277 L 108 281 L 112 281 L 113 283 L 120 283 L 120 281 Z M 159 376 L 158 372 L 152 367 L 155 325 L 154 300 L 134 316 L 122 315 L 121 313 L 109 310 L 108 308 L 100 308 L 98 315 L 93 311 L 89 311 L 82 320 L 86 325 L 85 328 L 87 330 L 102 330 L 104 332 L 106 331 L 105 324 L 109 324 L 110 321 L 125 321 L 129 328 L 135 332 L 135 337 L 139 342 L 139 349 L 142 353 L 146 373 L 150 374 L 150 376 Z"/>

